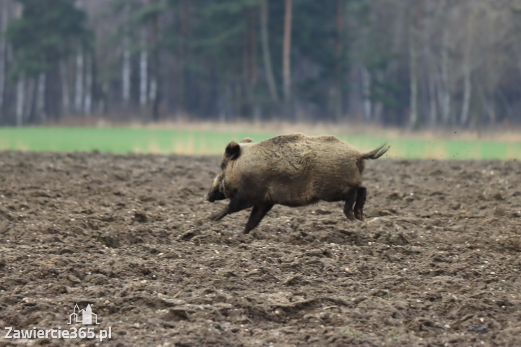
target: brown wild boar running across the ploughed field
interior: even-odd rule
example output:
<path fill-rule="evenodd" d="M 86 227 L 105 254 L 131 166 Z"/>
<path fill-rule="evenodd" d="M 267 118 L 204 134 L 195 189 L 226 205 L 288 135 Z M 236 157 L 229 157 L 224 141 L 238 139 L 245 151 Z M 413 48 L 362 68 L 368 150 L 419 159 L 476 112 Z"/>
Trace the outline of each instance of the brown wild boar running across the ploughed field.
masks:
<path fill-rule="evenodd" d="M 210 188 L 209 202 L 230 199 L 220 212 L 228 214 L 253 207 L 244 233 L 249 233 L 275 204 L 304 206 L 323 201 L 345 201 L 349 220 L 364 219 L 367 190 L 362 187 L 365 159 L 377 159 L 389 150 L 356 147 L 331 135 L 279 135 L 252 143 L 246 138 L 230 142 L 222 155 L 221 171 Z"/>

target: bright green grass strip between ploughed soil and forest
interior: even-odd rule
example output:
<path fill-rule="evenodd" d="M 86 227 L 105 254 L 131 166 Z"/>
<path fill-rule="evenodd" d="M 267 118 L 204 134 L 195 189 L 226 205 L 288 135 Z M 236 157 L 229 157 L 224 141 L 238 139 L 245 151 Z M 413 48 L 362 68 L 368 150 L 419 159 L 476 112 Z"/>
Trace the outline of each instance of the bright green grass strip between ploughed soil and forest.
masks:
<path fill-rule="evenodd" d="M 210 131 L 150 128 L 0 128 L 0 151 L 221 154 L 228 142 L 245 137 L 259 142 L 276 135 L 255 130 Z M 521 159 L 521 143 L 479 140 L 385 139 L 380 135 L 340 136 L 363 151 L 384 141 L 388 157 L 421 159 Z"/>

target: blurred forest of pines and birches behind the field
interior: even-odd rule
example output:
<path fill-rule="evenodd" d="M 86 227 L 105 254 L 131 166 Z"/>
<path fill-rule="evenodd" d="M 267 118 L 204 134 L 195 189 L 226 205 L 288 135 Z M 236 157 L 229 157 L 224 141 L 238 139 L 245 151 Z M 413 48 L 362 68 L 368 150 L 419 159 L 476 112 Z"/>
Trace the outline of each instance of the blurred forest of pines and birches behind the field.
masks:
<path fill-rule="evenodd" d="M 0 0 L 0 125 L 521 122 L 517 0 Z"/>

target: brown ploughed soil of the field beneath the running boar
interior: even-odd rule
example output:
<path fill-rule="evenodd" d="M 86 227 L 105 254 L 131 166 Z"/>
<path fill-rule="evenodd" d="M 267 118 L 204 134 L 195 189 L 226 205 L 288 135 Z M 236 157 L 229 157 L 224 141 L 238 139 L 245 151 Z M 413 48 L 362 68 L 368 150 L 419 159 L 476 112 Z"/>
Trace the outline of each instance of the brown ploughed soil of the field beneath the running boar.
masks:
<path fill-rule="evenodd" d="M 365 222 L 275 206 L 247 236 L 207 219 L 218 168 L 0 153 L 0 328 L 90 303 L 107 346 L 521 345 L 520 163 L 371 161 Z"/>

